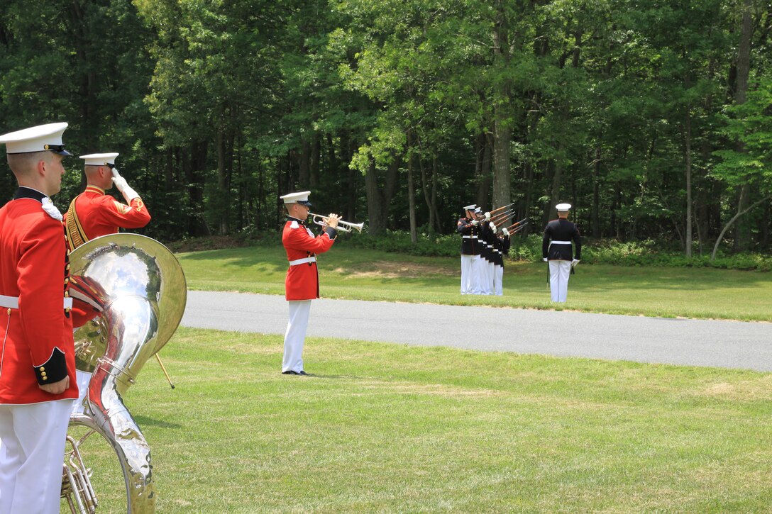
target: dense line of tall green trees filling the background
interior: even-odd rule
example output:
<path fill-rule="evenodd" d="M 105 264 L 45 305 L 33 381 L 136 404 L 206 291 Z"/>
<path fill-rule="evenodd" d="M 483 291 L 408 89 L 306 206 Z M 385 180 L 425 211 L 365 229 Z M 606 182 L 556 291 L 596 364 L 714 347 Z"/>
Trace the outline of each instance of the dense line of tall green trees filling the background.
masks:
<path fill-rule="evenodd" d="M 567 201 L 592 238 L 764 252 L 770 32 L 760 0 L 6 0 L 0 130 L 120 152 L 162 240 L 273 232 L 310 189 L 414 241 Z"/>

